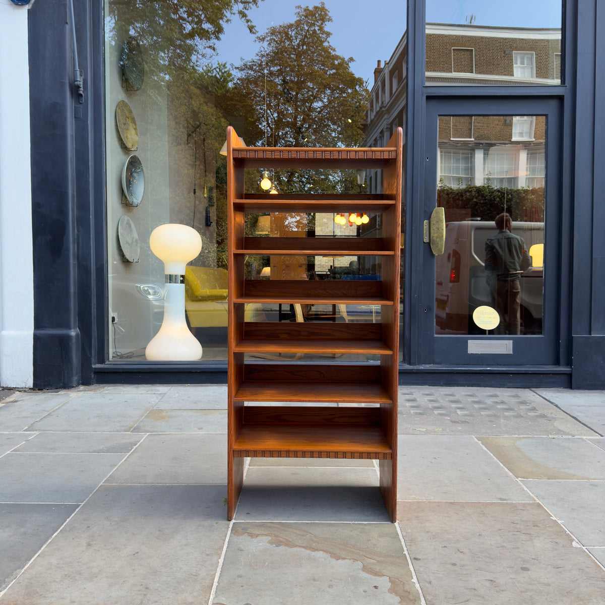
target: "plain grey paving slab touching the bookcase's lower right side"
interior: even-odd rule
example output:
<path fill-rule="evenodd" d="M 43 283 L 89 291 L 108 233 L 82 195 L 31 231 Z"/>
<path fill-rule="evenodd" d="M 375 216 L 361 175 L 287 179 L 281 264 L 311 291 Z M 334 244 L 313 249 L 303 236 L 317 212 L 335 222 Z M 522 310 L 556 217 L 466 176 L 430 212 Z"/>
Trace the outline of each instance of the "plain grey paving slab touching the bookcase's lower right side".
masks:
<path fill-rule="evenodd" d="M 474 437 L 402 435 L 397 450 L 397 500 L 531 502 Z"/>

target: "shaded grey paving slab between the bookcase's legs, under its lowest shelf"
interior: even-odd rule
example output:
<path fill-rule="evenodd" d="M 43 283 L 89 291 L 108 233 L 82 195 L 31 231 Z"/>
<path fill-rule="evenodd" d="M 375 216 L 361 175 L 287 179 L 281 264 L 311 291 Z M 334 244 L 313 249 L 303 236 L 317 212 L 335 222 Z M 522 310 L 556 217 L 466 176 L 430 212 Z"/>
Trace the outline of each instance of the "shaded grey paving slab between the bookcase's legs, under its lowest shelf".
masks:
<path fill-rule="evenodd" d="M 250 521 L 387 522 L 370 468 L 248 468 L 235 514 Z"/>

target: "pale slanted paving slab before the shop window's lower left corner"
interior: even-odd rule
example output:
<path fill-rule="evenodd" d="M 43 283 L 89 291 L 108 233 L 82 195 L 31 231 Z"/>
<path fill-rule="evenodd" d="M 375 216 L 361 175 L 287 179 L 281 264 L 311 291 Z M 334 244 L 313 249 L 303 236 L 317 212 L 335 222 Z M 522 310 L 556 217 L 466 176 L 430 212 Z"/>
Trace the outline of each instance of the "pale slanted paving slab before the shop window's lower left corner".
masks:
<path fill-rule="evenodd" d="M 159 401 L 159 394 L 80 393 L 31 425 L 59 433 L 126 433 Z"/>

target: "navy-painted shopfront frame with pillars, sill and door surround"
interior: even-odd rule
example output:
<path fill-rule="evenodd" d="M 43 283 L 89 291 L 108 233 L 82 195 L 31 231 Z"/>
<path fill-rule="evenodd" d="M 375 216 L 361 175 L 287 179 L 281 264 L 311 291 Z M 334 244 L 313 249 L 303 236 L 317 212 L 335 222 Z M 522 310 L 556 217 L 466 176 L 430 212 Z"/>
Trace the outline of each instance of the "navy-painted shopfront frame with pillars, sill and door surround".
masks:
<path fill-rule="evenodd" d="M 103 7 L 74 5 L 85 102 L 73 90 L 71 30 L 62 2 L 36 2 L 29 15 L 30 110 L 34 238 L 34 387 L 64 388 L 106 382 L 225 382 L 226 364 L 144 364 L 106 361 L 105 122 Z M 424 87 L 424 0 L 408 1 L 407 233 L 424 220 L 427 99 L 549 97 L 563 106 L 561 223 L 561 358 L 555 366 L 454 367 L 422 365 L 422 334 L 414 308 L 421 276 L 405 262 L 405 384 L 552 385 L 605 388 L 605 240 L 600 226 L 605 160 L 605 7 L 597 0 L 564 6 L 565 83 L 551 87 Z M 581 31 L 580 38 L 577 32 Z M 595 166 L 597 168 L 595 168 Z M 417 310 L 416 310 L 417 312 Z M 569 321 L 567 319 L 569 318 Z"/>

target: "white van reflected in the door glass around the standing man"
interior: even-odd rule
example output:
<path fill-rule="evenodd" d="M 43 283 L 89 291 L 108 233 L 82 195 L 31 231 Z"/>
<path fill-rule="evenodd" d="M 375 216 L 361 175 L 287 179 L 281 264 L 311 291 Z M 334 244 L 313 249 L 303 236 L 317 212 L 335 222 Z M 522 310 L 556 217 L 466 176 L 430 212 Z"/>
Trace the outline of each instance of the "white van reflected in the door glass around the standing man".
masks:
<path fill-rule="evenodd" d="M 544 223 L 513 221 L 512 232 L 525 241 L 532 265 L 521 276 L 521 333 L 542 333 Z M 456 221 L 445 225 L 445 250 L 436 257 L 435 333 L 485 334 L 473 311 L 494 307 L 485 270 L 485 240 L 497 233 L 494 221 Z"/>

